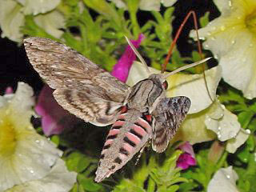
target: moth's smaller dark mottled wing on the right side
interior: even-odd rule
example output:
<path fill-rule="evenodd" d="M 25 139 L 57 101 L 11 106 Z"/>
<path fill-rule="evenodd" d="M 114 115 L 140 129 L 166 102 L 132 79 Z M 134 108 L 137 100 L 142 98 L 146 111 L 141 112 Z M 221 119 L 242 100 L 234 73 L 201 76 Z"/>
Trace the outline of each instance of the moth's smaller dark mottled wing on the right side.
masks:
<path fill-rule="evenodd" d="M 166 150 L 170 139 L 178 130 L 190 110 L 190 98 L 179 96 L 162 98 L 153 111 L 154 118 L 152 148 L 158 153 Z"/>

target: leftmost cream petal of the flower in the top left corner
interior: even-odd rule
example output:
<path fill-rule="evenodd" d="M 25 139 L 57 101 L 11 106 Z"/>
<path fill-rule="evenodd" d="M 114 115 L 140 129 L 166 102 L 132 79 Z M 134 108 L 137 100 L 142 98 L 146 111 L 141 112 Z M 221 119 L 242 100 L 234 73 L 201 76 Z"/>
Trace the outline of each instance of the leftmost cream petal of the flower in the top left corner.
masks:
<path fill-rule="evenodd" d="M 22 41 L 20 27 L 24 25 L 25 18 L 21 10 L 22 6 L 14 0 L 0 1 L 0 27 L 2 30 L 2 38 L 7 37 L 14 42 Z"/>

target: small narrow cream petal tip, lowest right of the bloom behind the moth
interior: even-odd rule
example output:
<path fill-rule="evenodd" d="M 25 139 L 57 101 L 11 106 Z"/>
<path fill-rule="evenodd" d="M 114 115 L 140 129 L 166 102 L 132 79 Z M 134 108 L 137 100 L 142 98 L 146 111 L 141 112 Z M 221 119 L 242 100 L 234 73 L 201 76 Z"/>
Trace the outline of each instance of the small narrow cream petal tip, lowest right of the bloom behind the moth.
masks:
<path fill-rule="evenodd" d="M 250 130 L 241 129 L 235 138 L 230 139 L 226 143 L 226 150 L 229 153 L 234 154 L 234 152 L 238 149 L 239 146 L 242 146 L 243 143 L 246 142 L 247 138 L 249 138 Z"/>

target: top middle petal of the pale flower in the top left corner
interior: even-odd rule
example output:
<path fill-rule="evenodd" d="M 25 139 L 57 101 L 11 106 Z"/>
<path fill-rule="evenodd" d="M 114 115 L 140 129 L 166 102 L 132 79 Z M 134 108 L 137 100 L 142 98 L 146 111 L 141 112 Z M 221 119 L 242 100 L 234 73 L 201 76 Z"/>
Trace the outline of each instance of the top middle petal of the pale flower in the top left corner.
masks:
<path fill-rule="evenodd" d="M 24 14 L 44 14 L 54 10 L 60 0 L 17 0 L 23 6 Z"/>

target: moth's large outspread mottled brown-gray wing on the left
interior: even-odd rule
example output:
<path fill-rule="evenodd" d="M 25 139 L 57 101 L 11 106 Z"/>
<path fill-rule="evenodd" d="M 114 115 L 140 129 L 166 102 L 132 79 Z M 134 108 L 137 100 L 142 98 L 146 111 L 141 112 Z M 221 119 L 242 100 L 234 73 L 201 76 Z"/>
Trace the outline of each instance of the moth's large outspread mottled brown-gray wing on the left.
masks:
<path fill-rule="evenodd" d="M 114 122 L 129 86 L 78 54 L 47 38 L 26 38 L 26 54 L 54 91 L 57 102 L 86 122 Z"/>

